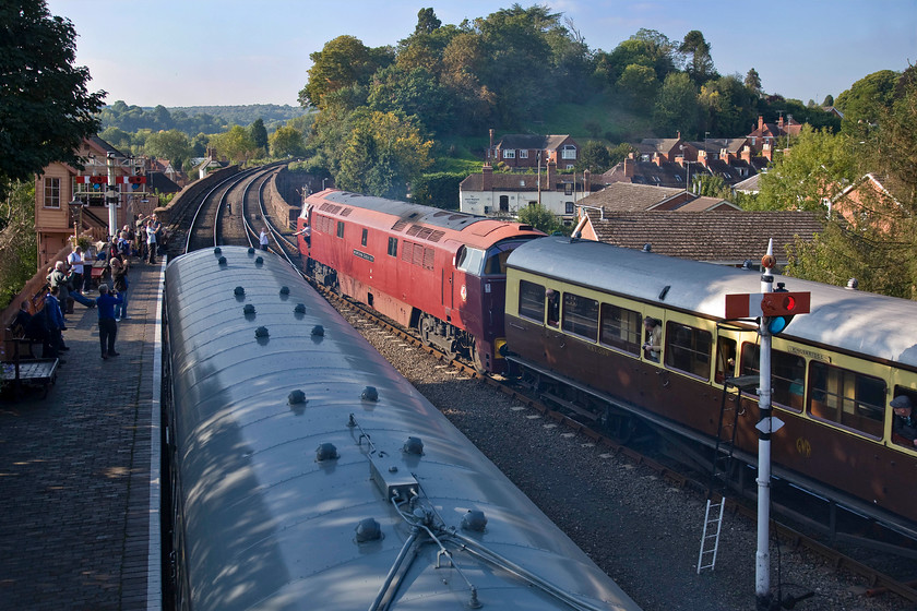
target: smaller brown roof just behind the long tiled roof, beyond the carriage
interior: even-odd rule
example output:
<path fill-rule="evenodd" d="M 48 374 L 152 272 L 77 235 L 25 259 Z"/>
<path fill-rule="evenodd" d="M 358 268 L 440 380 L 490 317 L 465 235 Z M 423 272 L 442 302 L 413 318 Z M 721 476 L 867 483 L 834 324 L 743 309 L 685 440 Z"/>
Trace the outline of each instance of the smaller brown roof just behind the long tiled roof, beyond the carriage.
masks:
<path fill-rule="evenodd" d="M 579 206 L 607 212 L 738 211 L 739 207 L 718 197 L 699 197 L 683 189 L 615 182 L 583 197 Z"/>

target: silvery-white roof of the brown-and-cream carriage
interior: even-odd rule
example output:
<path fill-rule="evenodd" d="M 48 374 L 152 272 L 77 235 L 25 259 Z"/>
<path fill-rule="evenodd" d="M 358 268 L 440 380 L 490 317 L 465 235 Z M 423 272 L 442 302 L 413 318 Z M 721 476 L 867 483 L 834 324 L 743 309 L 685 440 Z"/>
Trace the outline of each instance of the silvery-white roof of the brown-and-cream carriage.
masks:
<path fill-rule="evenodd" d="M 531 240 L 508 266 L 716 319 L 725 318 L 726 295 L 761 292 L 760 272 L 570 238 Z M 778 281 L 812 298 L 811 313 L 782 336 L 917 367 L 917 302 L 775 275 Z"/>

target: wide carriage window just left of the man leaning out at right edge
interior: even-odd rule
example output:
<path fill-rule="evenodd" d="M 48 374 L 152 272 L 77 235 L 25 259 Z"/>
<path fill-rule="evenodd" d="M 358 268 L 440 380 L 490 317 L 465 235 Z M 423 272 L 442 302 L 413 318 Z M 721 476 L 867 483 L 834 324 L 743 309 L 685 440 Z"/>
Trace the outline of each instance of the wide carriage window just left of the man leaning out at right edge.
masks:
<path fill-rule="evenodd" d="M 885 382 L 848 369 L 812 361 L 809 414 L 874 438 L 882 436 Z"/>

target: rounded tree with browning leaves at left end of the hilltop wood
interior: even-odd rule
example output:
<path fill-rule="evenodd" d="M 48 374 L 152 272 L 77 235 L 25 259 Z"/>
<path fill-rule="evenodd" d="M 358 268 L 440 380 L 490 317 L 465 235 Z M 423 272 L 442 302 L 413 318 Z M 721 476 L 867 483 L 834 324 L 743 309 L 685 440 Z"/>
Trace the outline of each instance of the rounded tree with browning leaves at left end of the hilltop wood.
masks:
<path fill-rule="evenodd" d="M 366 84 L 380 68 L 394 60 L 388 47 L 369 48 L 354 36 L 338 36 L 325 43 L 321 51 L 309 55 L 312 68 L 309 82 L 299 92 L 302 106 L 323 106 L 322 98 L 342 87 Z"/>

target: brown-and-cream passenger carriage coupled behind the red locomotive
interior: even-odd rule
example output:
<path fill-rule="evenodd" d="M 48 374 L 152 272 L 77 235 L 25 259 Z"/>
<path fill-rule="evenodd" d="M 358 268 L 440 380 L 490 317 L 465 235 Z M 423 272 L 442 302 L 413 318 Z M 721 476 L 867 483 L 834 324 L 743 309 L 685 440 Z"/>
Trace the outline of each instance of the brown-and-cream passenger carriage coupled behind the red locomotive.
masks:
<path fill-rule="evenodd" d="M 735 455 L 755 463 L 759 335 L 720 324 L 727 293 L 758 293 L 757 272 L 570 238 L 516 249 L 508 262 L 508 360 L 546 395 L 626 434 L 640 421 L 700 442 L 719 434 L 724 384 L 738 400 Z M 811 313 L 773 338 L 775 475 L 917 535 L 917 448 L 892 432 L 889 402 L 917 405 L 917 303 L 797 278 Z M 644 351 L 643 321 L 662 325 Z M 738 378 L 750 376 L 750 378 Z M 738 397 L 738 398 L 737 398 Z"/>

